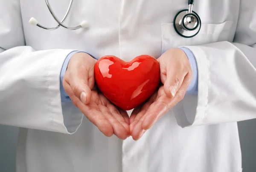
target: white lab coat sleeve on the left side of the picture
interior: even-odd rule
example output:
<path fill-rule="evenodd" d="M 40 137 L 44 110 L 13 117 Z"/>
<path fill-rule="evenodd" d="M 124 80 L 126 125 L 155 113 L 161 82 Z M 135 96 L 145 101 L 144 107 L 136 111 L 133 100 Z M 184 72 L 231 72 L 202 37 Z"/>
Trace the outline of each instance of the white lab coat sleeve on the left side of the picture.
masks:
<path fill-rule="evenodd" d="M 19 0 L 0 0 L 0 124 L 72 134 L 83 114 L 61 102 L 60 73 L 74 50 L 25 46 Z"/>

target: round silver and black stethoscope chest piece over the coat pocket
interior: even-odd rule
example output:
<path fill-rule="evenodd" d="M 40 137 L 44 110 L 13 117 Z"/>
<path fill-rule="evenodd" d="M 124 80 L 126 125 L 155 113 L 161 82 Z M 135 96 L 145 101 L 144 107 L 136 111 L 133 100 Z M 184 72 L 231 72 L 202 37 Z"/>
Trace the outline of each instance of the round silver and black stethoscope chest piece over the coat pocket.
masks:
<path fill-rule="evenodd" d="M 182 37 L 190 38 L 197 35 L 201 29 L 201 19 L 195 11 L 188 9 L 179 11 L 173 20 L 174 29 Z"/>

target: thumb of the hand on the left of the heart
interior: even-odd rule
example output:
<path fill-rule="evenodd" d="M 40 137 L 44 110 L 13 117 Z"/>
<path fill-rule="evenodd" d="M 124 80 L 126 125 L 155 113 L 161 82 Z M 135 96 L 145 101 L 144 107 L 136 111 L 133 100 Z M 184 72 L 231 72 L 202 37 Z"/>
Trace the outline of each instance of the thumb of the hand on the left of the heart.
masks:
<path fill-rule="evenodd" d="M 87 80 L 76 78 L 70 83 L 74 95 L 84 104 L 90 103 L 91 89 Z"/>

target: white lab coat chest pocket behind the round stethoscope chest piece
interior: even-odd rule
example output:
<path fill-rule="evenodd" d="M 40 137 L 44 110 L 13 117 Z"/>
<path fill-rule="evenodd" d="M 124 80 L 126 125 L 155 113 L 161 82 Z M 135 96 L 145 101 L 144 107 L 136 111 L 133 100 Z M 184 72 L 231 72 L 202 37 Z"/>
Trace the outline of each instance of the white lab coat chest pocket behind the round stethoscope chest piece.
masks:
<path fill-rule="evenodd" d="M 173 23 L 163 23 L 162 30 L 162 53 L 166 50 L 179 46 L 195 46 L 219 41 L 232 42 L 233 35 L 230 32 L 233 21 L 225 21 L 220 24 L 203 24 L 200 32 L 192 38 L 181 37 L 176 33 Z"/>

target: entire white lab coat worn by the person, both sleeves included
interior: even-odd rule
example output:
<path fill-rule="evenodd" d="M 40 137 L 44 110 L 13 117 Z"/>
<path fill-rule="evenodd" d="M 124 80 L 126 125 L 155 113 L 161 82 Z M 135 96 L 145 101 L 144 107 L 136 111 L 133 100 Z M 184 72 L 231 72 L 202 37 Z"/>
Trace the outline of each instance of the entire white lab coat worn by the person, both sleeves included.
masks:
<path fill-rule="evenodd" d="M 61 20 L 69 0 L 50 0 Z M 44 0 L 0 0 L 0 124 L 19 126 L 17 172 L 241 172 L 236 121 L 256 118 L 256 1 L 195 0 L 200 33 L 172 22 L 187 0 L 75 0 L 55 26 Z M 234 43 L 233 43 L 234 42 Z M 198 63 L 198 95 L 186 95 L 143 137 L 105 137 L 62 103 L 65 57 L 81 50 L 129 61 L 187 46 Z M 254 47 L 254 48 L 253 48 Z"/>

